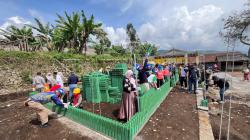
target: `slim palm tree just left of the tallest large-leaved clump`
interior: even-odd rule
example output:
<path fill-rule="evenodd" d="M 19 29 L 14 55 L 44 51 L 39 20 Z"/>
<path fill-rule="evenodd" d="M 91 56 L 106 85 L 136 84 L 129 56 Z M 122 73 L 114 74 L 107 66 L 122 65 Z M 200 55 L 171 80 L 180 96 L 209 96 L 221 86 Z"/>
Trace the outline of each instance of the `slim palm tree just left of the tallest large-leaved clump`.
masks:
<path fill-rule="evenodd" d="M 49 23 L 47 24 L 42 24 L 42 22 L 38 18 L 34 18 L 36 21 L 36 26 L 33 25 L 28 25 L 31 28 L 37 30 L 39 34 L 37 34 L 37 38 L 39 39 L 39 42 L 41 45 L 46 44 L 47 49 L 49 51 L 52 50 L 52 45 L 51 45 L 51 33 L 52 29 L 50 28 Z"/>

